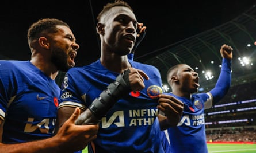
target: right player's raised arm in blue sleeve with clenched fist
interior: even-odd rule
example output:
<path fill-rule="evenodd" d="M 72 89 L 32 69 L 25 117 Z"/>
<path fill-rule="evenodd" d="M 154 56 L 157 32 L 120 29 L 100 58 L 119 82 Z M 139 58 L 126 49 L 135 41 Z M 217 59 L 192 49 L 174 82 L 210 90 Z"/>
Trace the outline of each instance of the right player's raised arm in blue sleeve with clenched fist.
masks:
<path fill-rule="evenodd" d="M 222 67 L 220 71 L 220 76 L 217 80 L 215 88 L 213 88 L 209 93 L 211 93 L 213 97 L 213 104 L 222 99 L 231 85 L 231 60 L 232 60 L 232 48 L 228 45 L 222 45 L 220 49 L 222 60 Z"/>

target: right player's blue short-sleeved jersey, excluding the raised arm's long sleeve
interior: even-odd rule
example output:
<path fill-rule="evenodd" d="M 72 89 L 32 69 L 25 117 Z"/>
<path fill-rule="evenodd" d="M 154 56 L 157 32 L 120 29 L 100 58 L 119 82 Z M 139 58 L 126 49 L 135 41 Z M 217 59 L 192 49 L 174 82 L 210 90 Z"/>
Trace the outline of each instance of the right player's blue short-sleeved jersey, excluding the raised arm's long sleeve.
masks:
<path fill-rule="evenodd" d="M 209 93 L 192 95 L 191 99 L 178 97 L 172 93 L 166 93 L 176 97 L 184 103 L 184 111 L 177 127 L 168 128 L 171 150 L 173 152 L 208 152 L 205 136 L 204 105 L 212 103 Z"/>

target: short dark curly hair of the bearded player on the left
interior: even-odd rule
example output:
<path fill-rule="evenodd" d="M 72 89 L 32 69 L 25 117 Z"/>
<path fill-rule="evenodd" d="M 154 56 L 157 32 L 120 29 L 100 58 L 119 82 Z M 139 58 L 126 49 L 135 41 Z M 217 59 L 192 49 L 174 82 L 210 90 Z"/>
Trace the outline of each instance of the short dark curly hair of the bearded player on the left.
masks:
<path fill-rule="evenodd" d="M 56 28 L 57 25 L 63 25 L 68 26 L 66 22 L 63 22 L 60 19 L 55 18 L 44 18 L 39 19 L 37 22 L 33 23 L 30 28 L 28 29 L 28 42 L 30 46 L 30 42 L 38 37 L 40 37 L 40 34 L 42 32 L 49 32 L 49 33 L 55 33 L 58 31 Z"/>

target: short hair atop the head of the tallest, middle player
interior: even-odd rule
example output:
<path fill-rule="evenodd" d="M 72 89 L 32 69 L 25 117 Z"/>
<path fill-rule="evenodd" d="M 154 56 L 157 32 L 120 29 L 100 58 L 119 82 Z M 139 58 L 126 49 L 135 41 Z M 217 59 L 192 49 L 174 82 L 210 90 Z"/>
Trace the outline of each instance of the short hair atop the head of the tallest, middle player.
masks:
<path fill-rule="evenodd" d="M 116 6 L 128 7 L 131 11 L 133 11 L 133 10 L 132 10 L 132 7 L 129 6 L 127 2 L 121 1 L 121 0 L 116 0 L 116 1 L 114 1 L 113 3 L 111 3 L 111 2 L 110 2 L 110 3 L 107 3 L 107 4 L 103 7 L 103 9 L 101 10 L 101 12 L 98 14 L 98 17 L 97 17 L 98 21 L 100 21 L 100 18 L 101 18 L 101 16 L 102 16 L 102 14 L 105 14 L 108 10 L 110 10 L 111 8 L 116 7 Z"/>

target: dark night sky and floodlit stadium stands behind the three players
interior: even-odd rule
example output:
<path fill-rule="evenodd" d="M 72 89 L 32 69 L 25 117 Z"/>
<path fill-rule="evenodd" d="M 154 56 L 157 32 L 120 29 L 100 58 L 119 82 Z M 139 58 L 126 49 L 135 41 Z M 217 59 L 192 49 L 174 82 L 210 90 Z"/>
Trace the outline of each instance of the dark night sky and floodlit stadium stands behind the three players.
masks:
<path fill-rule="evenodd" d="M 74 1 L 71 5 L 49 1 L 37 5 L 3 1 L 6 9 L 0 10 L 0 60 L 29 60 L 27 29 L 37 19 L 46 17 L 63 19 L 73 29 L 81 45 L 77 66 L 97 60 L 100 51 L 95 17 L 106 2 Z M 178 63 L 186 63 L 198 72 L 198 92 L 209 91 L 220 73 L 220 46 L 226 43 L 234 48 L 231 89 L 220 103 L 205 111 L 207 140 L 208 143 L 254 144 L 255 148 L 255 1 L 127 2 L 138 20 L 147 26 L 135 61 L 156 66 L 161 72 L 163 89 L 168 92 L 165 74 L 170 66 Z M 60 72 L 56 83 L 60 85 L 63 76 L 64 72 Z"/>

